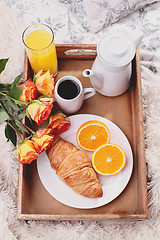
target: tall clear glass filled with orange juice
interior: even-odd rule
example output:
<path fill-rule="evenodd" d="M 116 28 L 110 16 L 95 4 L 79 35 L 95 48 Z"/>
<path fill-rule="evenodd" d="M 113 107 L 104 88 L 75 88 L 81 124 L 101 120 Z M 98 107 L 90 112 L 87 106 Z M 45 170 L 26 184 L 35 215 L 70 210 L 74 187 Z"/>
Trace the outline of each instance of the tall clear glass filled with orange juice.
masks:
<path fill-rule="evenodd" d="M 45 24 L 36 23 L 24 30 L 22 39 L 34 73 L 45 68 L 55 76 L 58 63 L 52 29 Z"/>

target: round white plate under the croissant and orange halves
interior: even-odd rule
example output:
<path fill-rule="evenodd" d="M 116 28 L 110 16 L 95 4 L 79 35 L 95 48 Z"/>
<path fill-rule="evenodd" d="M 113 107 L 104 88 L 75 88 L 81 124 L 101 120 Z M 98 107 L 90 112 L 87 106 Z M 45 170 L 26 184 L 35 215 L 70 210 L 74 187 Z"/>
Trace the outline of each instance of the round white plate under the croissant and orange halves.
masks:
<path fill-rule="evenodd" d="M 70 207 L 89 209 L 103 206 L 112 200 L 114 200 L 119 194 L 125 189 L 133 169 L 133 155 L 131 146 L 124 133 L 111 121 L 91 114 L 79 114 L 69 117 L 71 125 L 69 129 L 62 133 L 60 136 L 73 143 L 77 148 L 76 132 L 78 128 L 86 121 L 99 120 L 105 123 L 110 132 L 110 142 L 118 144 L 125 151 L 126 154 L 126 165 L 124 169 L 115 176 L 101 176 L 98 174 L 99 181 L 103 188 L 103 197 L 90 199 L 83 197 L 75 193 L 70 187 L 68 187 L 55 173 L 55 170 L 51 168 L 50 161 L 47 157 L 46 152 L 39 155 L 37 159 L 37 169 L 39 177 L 46 188 L 46 190 L 58 201 L 68 205 Z M 86 152 L 91 158 L 92 153 Z"/>

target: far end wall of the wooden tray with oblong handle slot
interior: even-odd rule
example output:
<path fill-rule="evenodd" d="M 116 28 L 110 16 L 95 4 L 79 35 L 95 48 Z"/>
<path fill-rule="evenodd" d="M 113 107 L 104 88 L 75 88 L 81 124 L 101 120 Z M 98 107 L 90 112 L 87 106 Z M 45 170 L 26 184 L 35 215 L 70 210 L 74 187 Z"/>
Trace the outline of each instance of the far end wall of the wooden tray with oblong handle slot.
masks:
<path fill-rule="evenodd" d="M 96 44 L 57 44 L 58 58 L 94 59 L 97 55 Z"/>

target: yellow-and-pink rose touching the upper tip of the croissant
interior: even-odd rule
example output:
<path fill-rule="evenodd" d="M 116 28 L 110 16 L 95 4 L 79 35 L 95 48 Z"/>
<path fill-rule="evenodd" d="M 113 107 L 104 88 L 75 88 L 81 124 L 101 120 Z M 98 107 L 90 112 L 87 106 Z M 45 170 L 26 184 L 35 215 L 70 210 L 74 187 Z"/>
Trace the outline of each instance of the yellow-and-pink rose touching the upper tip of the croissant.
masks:
<path fill-rule="evenodd" d="M 44 150 L 47 150 L 51 143 L 54 140 L 54 135 L 52 134 L 52 129 L 40 129 L 36 132 L 35 136 L 32 138 L 32 141 L 35 144 L 35 149 L 37 152 L 41 153 Z"/>

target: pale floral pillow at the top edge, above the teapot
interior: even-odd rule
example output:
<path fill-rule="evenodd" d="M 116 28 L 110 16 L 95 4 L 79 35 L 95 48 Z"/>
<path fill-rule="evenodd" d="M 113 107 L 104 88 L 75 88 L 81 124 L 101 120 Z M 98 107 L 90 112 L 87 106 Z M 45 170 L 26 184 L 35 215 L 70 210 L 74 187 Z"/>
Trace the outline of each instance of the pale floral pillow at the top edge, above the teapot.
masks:
<path fill-rule="evenodd" d="M 155 0 L 75 0 L 71 10 L 82 26 L 94 33 Z"/>

